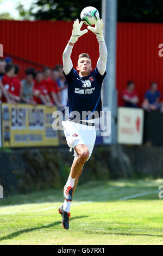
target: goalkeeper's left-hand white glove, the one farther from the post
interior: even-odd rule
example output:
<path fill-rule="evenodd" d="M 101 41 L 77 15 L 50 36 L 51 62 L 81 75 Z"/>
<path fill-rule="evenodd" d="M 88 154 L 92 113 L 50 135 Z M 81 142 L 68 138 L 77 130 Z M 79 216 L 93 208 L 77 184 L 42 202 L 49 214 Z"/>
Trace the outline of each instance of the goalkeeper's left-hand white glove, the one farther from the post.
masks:
<path fill-rule="evenodd" d="M 80 31 L 80 29 L 82 28 L 82 25 L 83 25 L 83 21 L 80 21 L 80 23 L 79 23 L 78 19 L 76 21 L 74 21 L 72 35 L 71 35 L 71 38 L 69 41 L 69 42 L 72 42 L 72 44 L 74 44 L 80 36 L 82 36 L 88 32 L 87 29 Z"/>

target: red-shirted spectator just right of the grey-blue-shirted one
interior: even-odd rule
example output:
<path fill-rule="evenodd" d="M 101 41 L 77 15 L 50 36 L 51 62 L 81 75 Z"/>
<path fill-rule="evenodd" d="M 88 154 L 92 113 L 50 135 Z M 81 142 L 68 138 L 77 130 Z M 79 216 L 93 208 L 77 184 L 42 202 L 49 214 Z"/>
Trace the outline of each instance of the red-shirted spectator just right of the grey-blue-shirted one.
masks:
<path fill-rule="evenodd" d="M 48 89 L 45 80 L 43 80 L 42 71 L 37 71 L 34 80 L 34 96 L 35 101 L 39 104 L 45 104 L 52 107 L 53 103 L 48 95 Z"/>

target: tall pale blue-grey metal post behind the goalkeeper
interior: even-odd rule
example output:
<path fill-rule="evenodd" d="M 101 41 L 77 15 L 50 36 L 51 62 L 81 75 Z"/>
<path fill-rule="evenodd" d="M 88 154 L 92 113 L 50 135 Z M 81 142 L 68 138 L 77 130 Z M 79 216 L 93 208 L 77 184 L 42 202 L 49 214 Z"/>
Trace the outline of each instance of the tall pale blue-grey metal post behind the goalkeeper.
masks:
<path fill-rule="evenodd" d="M 111 111 L 111 135 L 103 137 L 104 143 L 116 143 L 116 23 L 117 0 L 102 0 L 102 19 L 104 21 L 104 38 L 108 49 L 106 77 L 103 83 L 103 106 Z"/>

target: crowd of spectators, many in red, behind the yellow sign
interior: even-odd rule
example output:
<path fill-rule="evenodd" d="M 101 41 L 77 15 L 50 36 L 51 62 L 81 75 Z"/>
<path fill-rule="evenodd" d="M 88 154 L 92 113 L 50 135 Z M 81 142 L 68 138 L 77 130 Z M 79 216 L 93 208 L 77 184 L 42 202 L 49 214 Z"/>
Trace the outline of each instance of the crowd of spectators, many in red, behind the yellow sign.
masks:
<path fill-rule="evenodd" d="M 8 61 L 7 61 L 8 60 Z M 67 83 L 62 65 L 26 69 L 23 80 L 18 78 L 19 67 L 10 58 L 0 59 L 0 100 L 7 103 L 44 104 L 64 108 L 67 103 Z"/>

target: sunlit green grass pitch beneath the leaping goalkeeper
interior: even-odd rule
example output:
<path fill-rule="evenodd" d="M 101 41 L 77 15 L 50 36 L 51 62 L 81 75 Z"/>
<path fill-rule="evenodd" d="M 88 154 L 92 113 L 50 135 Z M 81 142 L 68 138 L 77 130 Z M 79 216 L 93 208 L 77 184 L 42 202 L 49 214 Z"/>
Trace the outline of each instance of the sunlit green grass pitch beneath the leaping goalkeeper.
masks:
<path fill-rule="evenodd" d="M 162 245 L 159 185 L 163 180 L 93 181 L 78 186 L 69 230 L 62 228 L 58 214 L 62 190 L 1 199 L 0 245 Z"/>

